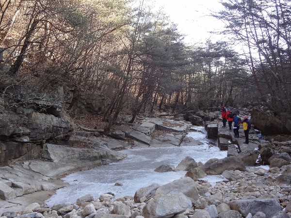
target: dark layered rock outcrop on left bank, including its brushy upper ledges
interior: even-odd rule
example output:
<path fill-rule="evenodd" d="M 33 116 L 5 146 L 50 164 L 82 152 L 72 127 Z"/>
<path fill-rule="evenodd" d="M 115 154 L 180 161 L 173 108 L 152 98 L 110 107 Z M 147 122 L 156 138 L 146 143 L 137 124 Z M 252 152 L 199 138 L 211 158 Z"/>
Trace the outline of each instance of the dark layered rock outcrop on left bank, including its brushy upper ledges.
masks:
<path fill-rule="evenodd" d="M 45 143 L 56 137 L 68 140 L 74 125 L 72 119 L 64 115 L 68 109 L 73 115 L 80 115 L 87 110 L 99 112 L 104 106 L 100 96 L 88 104 L 90 99 L 83 95 L 81 101 L 76 100 L 69 89 L 56 90 L 52 94 L 38 93 L 13 85 L 0 96 L 0 166 L 41 158 Z"/>

